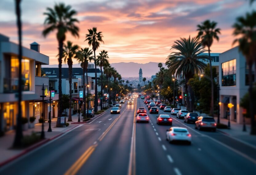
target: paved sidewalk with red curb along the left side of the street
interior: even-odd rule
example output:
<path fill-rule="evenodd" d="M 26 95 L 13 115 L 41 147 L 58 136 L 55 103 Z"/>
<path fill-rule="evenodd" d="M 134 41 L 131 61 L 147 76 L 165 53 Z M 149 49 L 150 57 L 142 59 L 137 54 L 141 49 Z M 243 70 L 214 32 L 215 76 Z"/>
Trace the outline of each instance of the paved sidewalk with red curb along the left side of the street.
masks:
<path fill-rule="evenodd" d="M 80 115 L 80 119 L 82 119 L 81 115 Z M 68 119 L 66 118 L 66 121 L 67 120 Z M 77 114 L 72 115 L 72 120 L 73 120 L 73 122 L 78 120 Z M 56 127 L 56 122 L 57 122 L 57 118 L 53 118 L 52 123 L 51 123 L 52 132 L 47 132 L 47 130 L 49 128 L 49 123 L 45 122 L 44 123 L 45 139 L 33 144 L 30 147 L 24 148 L 24 149 L 11 149 L 13 141 L 14 141 L 14 137 L 15 137 L 15 130 L 6 132 L 5 135 L 0 138 L 0 153 L 1 153 L 0 166 L 2 163 L 5 163 L 6 161 L 11 160 L 14 157 L 17 158 L 17 156 L 19 157 L 19 156 L 25 154 L 26 152 L 31 150 L 32 147 L 33 147 L 33 149 L 36 147 L 39 147 L 42 144 L 48 142 L 49 140 L 52 140 L 53 138 L 56 138 L 56 137 L 60 136 L 61 134 L 67 132 L 68 130 L 73 129 L 74 127 L 77 127 L 79 125 L 79 124 L 70 124 L 71 122 L 69 122 L 69 126 L 67 126 L 67 127 Z M 42 124 L 36 123 L 34 128 L 30 128 L 26 131 L 23 131 L 23 136 L 31 135 L 32 132 L 36 132 L 36 133 L 40 134 L 41 130 L 42 130 Z"/>

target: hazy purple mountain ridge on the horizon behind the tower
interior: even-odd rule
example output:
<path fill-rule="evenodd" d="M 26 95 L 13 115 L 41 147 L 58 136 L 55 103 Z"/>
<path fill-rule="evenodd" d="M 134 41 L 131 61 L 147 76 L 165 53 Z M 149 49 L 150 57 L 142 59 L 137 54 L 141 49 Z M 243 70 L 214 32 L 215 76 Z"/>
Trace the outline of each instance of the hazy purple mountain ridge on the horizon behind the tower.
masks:
<path fill-rule="evenodd" d="M 157 67 L 158 63 L 156 62 L 149 62 L 149 63 L 112 63 L 110 64 L 112 67 L 116 68 L 117 72 L 121 74 L 122 77 L 139 77 L 139 70 L 142 69 L 142 76 L 143 77 L 151 77 L 152 75 L 155 75 L 156 72 L 159 71 L 159 67 Z M 164 63 L 163 63 L 164 65 Z M 58 65 L 42 65 L 42 67 L 47 68 L 57 68 Z M 62 65 L 63 68 L 67 68 L 68 66 L 66 64 Z M 80 68 L 79 64 L 73 64 L 73 68 Z"/>

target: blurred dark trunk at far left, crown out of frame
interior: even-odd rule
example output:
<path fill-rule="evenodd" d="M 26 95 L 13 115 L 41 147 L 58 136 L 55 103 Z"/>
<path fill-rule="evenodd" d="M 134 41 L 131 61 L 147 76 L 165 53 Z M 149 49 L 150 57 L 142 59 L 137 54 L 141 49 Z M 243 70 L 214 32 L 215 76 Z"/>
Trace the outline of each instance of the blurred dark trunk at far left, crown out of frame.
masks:
<path fill-rule="evenodd" d="M 22 61 L 22 24 L 21 24 L 21 11 L 20 11 L 20 0 L 16 0 L 16 15 L 17 15 L 17 27 L 18 27 L 18 37 L 19 37 L 19 85 L 18 85 L 18 116 L 17 116 L 17 126 L 14 138 L 14 147 L 19 147 L 22 144 L 22 123 L 21 123 L 21 100 L 22 100 L 22 75 L 21 75 L 21 61 Z"/>

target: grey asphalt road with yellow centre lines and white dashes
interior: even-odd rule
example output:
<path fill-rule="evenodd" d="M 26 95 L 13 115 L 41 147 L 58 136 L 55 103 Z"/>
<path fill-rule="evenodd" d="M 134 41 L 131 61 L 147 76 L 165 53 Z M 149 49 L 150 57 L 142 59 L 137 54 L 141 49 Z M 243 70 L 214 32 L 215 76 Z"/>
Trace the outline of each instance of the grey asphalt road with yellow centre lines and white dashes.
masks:
<path fill-rule="evenodd" d="M 256 174 L 256 149 L 219 132 L 198 131 L 173 115 L 173 126 L 188 128 L 192 144 L 170 144 L 166 129 L 135 123 L 141 99 L 81 124 L 0 168 L 0 174 Z M 163 114 L 159 110 L 159 114 Z"/>

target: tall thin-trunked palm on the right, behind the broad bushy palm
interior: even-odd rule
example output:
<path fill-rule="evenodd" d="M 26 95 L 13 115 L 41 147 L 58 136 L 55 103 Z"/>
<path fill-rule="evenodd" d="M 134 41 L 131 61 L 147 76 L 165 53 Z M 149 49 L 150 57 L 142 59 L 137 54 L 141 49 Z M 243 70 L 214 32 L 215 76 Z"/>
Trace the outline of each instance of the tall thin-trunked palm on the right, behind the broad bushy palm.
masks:
<path fill-rule="evenodd" d="M 220 29 L 216 29 L 217 22 L 206 20 L 202 22 L 201 25 L 197 25 L 198 35 L 197 38 L 201 38 L 202 44 L 204 47 L 208 48 L 208 55 L 210 61 L 210 73 L 211 73 L 211 115 L 214 115 L 214 90 L 213 90 L 213 78 L 212 78 L 212 67 L 211 67 L 211 54 L 210 47 L 213 43 L 213 40 L 216 39 L 219 41 Z"/>

